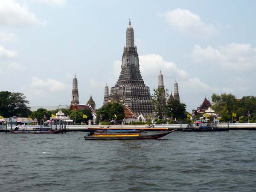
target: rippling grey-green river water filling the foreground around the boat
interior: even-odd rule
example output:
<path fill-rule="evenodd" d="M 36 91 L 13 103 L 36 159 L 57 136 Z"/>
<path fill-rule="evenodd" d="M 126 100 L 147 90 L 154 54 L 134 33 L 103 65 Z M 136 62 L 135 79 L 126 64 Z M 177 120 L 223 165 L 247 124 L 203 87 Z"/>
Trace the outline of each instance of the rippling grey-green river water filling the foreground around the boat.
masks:
<path fill-rule="evenodd" d="M 0 133 L 0 191 L 256 191 L 256 131 L 77 140 L 85 134 Z"/>

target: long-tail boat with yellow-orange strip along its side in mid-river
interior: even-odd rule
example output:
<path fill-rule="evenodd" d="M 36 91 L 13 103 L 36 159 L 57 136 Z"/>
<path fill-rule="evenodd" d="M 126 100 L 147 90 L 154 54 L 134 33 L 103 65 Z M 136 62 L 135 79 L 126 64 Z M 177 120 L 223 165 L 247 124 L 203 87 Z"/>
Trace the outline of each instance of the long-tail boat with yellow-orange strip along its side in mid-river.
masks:
<path fill-rule="evenodd" d="M 176 130 L 173 130 L 176 131 Z M 166 131 L 160 134 L 141 135 L 139 134 L 94 134 L 89 133 L 88 136 L 84 136 L 84 140 L 152 140 L 166 136 L 173 131 Z"/>

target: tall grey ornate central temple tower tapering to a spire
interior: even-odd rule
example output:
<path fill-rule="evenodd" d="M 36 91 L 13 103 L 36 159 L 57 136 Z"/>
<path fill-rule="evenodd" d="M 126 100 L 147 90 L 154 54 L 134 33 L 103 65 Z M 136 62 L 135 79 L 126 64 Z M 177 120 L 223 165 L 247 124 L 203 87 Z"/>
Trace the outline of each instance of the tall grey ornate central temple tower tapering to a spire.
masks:
<path fill-rule="evenodd" d="M 125 103 L 137 116 L 151 116 L 153 109 L 149 87 L 140 74 L 139 55 L 134 47 L 134 29 L 131 20 L 126 29 L 126 46 L 122 55 L 121 73 L 116 85 L 111 87 L 111 102 Z"/>

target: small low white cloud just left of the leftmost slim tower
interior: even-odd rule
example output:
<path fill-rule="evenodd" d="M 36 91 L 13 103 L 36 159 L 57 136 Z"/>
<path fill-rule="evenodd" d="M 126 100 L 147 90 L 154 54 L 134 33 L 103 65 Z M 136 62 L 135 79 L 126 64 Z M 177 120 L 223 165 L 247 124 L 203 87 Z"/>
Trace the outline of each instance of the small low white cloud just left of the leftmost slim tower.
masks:
<path fill-rule="evenodd" d="M 43 88 L 49 92 L 67 91 L 70 89 L 67 84 L 60 81 L 56 81 L 54 79 L 43 80 L 35 76 L 32 77 L 31 87 L 36 89 Z"/>

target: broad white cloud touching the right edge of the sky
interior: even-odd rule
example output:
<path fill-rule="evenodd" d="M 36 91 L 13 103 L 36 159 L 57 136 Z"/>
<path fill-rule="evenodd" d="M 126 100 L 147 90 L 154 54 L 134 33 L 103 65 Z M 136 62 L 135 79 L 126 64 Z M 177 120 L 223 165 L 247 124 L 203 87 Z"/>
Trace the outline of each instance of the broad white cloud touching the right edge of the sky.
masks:
<path fill-rule="evenodd" d="M 250 44 L 232 43 L 218 48 L 195 45 L 190 56 L 197 64 L 219 65 L 229 70 L 251 70 L 256 67 L 256 49 Z"/>

